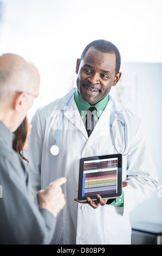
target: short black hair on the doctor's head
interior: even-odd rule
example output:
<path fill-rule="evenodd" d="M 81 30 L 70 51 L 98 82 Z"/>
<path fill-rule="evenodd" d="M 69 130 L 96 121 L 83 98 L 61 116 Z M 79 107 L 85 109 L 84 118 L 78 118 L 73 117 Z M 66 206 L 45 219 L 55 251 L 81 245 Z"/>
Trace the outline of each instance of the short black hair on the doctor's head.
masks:
<path fill-rule="evenodd" d="M 115 75 L 119 73 L 120 70 L 120 64 L 121 64 L 121 57 L 120 57 L 120 52 L 118 48 L 112 44 L 112 42 L 106 41 L 106 40 L 95 40 L 90 42 L 85 50 L 83 50 L 81 54 L 80 61 L 85 57 L 86 52 L 90 47 L 94 47 L 95 50 L 98 50 L 103 53 L 114 53 L 116 56 L 116 67 L 115 67 Z"/>

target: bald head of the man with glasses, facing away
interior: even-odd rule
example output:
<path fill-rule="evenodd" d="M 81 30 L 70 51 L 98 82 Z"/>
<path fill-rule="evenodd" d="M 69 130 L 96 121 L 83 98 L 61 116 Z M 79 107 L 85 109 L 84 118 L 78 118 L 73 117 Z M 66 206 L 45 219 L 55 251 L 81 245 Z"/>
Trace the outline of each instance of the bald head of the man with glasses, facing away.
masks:
<path fill-rule="evenodd" d="M 15 54 L 0 56 L 0 120 L 10 131 L 21 124 L 38 95 L 35 66 Z"/>

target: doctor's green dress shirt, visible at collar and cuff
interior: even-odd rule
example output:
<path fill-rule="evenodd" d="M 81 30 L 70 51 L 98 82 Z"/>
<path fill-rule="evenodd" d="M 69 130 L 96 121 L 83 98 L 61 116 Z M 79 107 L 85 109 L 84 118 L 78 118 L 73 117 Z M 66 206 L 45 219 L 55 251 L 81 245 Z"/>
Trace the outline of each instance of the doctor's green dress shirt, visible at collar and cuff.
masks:
<path fill-rule="evenodd" d="M 86 112 L 87 112 L 88 108 L 92 107 L 92 106 L 88 102 L 86 102 L 82 99 L 78 90 L 76 90 L 76 93 L 74 95 L 74 100 L 75 100 L 76 106 L 79 110 L 79 113 L 81 115 L 81 118 L 83 120 L 83 123 L 85 124 L 86 118 L 87 118 Z M 99 101 L 98 103 L 96 103 L 94 105 L 94 107 L 97 109 L 97 112 L 98 112 L 98 116 L 95 116 L 95 122 L 98 121 L 103 110 L 106 108 L 108 100 L 109 100 L 109 97 L 108 97 L 108 95 L 106 95 L 101 101 Z M 122 193 L 122 197 L 116 198 L 115 200 L 113 200 L 113 202 L 112 202 L 112 200 L 108 200 L 107 204 L 123 207 L 124 206 L 124 194 Z"/>

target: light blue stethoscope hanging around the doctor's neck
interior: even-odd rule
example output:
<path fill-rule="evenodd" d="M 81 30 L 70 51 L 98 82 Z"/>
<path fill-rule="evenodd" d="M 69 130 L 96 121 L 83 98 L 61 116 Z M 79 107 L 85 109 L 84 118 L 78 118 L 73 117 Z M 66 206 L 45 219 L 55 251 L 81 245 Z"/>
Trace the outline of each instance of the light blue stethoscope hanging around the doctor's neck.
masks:
<path fill-rule="evenodd" d="M 55 137 L 55 144 L 52 145 L 51 148 L 50 148 L 51 155 L 56 156 L 56 155 L 59 154 L 59 146 L 57 145 L 57 141 L 58 141 L 58 138 L 59 138 L 59 135 L 60 135 L 60 131 L 62 129 L 63 122 L 64 122 L 64 113 L 67 111 L 69 102 L 72 99 L 73 95 L 76 93 L 76 90 L 77 89 L 75 89 L 74 92 L 72 93 L 72 95 L 70 95 L 69 99 L 66 102 L 66 106 L 64 107 L 64 111 L 63 111 L 62 119 L 61 119 L 61 122 L 60 122 L 60 125 L 59 125 L 59 129 L 57 130 L 56 137 Z M 116 121 L 120 121 L 122 126 L 124 127 L 124 151 L 123 151 L 122 155 L 125 156 L 125 155 L 127 155 L 127 154 L 124 155 L 124 152 L 126 150 L 126 131 L 125 131 L 126 123 L 125 123 L 125 118 L 124 118 L 124 115 L 121 112 L 117 111 L 117 108 L 116 108 L 116 105 L 115 105 L 115 102 L 114 102 L 113 98 L 109 94 L 108 94 L 108 96 L 109 96 L 109 99 L 112 101 L 113 108 L 114 108 L 114 112 L 110 115 L 110 120 L 109 120 L 109 127 L 110 127 L 110 131 L 111 131 L 111 136 L 112 136 L 114 148 L 115 148 L 115 150 L 118 154 L 121 154 L 121 153 L 119 153 L 119 151 L 116 149 L 116 146 L 115 146 L 115 141 L 114 141 L 114 136 L 113 136 L 113 123 L 112 123 L 113 115 L 119 115 L 120 118 L 122 119 L 122 121 L 121 120 L 116 120 Z"/>

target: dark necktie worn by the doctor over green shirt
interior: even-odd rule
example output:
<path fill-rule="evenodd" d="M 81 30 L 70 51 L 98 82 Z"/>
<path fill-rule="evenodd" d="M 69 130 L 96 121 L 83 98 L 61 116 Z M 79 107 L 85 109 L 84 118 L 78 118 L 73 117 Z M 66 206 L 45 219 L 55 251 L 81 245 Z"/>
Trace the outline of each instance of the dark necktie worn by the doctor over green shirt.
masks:
<path fill-rule="evenodd" d="M 96 113 L 97 109 L 95 107 L 90 107 L 87 110 L 87 120 L 86 120 L 86 130 L 88 137 L 92 133 L 94 129 L 94 115 Z"/>

